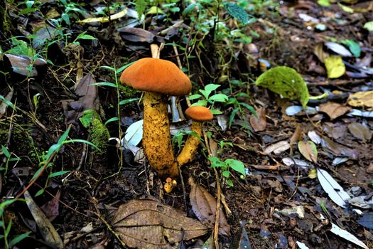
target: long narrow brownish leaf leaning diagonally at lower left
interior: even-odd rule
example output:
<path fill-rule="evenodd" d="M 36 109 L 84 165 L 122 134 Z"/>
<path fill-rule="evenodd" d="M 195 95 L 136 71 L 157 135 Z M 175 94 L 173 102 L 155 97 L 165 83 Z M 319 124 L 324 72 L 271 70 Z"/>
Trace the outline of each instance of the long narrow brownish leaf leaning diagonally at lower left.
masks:
<path fill-rule="evenodd" d="M 38 205 L 36 205 L 35 201 L 33 201 L 33 198 L 28 191 L 25 191 L 23 196 L 25 196 L 28 209 L 30 209 L 30 212 L 38 225 L 39 231 L 45 242 L 48 243 L 48 245 L 53 246 L 53 248 L 65 248 L 60 235 L 57 233 L 57 231 L 55 231 L 55 228 L 53 227 L 52 223 L 50 223 L 47 216 L 45 216 L 43 211 L 41 211 Z"/>

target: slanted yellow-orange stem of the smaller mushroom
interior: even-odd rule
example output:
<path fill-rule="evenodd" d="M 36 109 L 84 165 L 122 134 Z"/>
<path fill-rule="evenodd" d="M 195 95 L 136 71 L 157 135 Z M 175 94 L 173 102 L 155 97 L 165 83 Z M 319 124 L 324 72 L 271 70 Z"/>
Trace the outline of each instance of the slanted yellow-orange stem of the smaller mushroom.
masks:
<path fill-rule="evenodd" d="M 202 122 L 193 121 L 190 130 L 198 134 L 198 137 L 190 134 L 185 142 L 183 149 L 177 157 L 178 165 L 182 166 L 193 160 L 195 152 L 197 152 L 202 135 Z"/>

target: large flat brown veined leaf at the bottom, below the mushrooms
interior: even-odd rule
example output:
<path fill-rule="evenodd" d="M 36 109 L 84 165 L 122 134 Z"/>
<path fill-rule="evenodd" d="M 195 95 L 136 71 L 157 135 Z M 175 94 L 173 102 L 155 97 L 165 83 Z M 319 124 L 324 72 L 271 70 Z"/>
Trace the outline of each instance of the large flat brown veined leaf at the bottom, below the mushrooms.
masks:
<path fill-rule="evenodd" d="M 151 200 L 132 200 L 119 206 L 112 225 L 130 248 L 175 248 L 180 240 L 207 233 L 200 221 Z"/>

